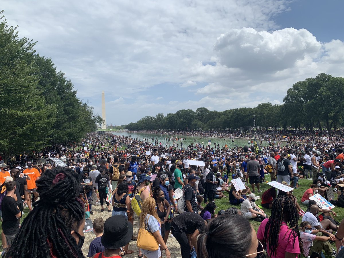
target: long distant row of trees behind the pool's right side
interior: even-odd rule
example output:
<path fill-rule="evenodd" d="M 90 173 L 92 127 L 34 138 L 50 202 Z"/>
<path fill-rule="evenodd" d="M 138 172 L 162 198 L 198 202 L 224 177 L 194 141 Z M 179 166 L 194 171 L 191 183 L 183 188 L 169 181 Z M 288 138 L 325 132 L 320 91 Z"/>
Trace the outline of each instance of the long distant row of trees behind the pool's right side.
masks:
<path fill-rule="evenodd" d="M 256 128 L 293 127 L 306 128 L 313 132 L 337 130 L 344 127 L 344 78 L 321 73 L 315 78 L 307 78 L 295 83 L 287 90 L 283 104 L 261 103 L 253 108 L 233 108 L 225 111 L 210 111 L 207 108 L 182 109 L 166 116 L 159 113 L 146 116 L 136 123 L 129 123 L 129 130 L 185 130 L 185 129 L 227 129 L 236 130 L 244 126 L 253 126 L 256 116 Z"/>

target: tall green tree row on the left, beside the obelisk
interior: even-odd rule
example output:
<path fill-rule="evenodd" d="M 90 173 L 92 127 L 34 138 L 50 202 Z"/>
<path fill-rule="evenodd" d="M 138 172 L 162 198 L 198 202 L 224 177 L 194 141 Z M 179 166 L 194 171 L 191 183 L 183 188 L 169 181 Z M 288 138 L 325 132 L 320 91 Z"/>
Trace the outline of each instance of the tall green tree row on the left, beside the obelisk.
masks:
<path fill-rule="evenodd" d="M 0 15 L 3 11 L 0 12 Z M 54 143 L 73 143 L 95 131 L 100 116 L 77 98 L 73 83 L 36 42 L 0 17 L 0 153 L 4 160 Z"/>

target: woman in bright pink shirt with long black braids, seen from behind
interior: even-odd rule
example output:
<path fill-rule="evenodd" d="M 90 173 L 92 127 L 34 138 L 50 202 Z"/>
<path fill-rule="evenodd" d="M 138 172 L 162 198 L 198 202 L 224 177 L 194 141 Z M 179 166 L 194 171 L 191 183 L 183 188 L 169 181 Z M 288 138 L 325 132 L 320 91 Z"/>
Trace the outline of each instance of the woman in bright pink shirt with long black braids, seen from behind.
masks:
<path fill-rule="evenodd" d="M 266 245 L 271 258 L 295 258 L 302 250 L 299 243 L 299 215 L 294 202 L 287 196 L 278 196 L 272 202 L 271 216 L 258 228 L 257 237 Z"/>

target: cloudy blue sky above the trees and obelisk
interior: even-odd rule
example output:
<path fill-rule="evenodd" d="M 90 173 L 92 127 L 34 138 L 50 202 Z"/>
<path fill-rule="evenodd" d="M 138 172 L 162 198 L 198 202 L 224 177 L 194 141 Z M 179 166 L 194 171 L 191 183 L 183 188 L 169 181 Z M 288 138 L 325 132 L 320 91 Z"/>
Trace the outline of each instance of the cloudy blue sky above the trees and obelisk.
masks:
<path fill-rule="evenodd" d="M 319 73 L 344 76 L 342 0 L 2 0 L 19 35 L 106 123 L 283 103 Z"/>

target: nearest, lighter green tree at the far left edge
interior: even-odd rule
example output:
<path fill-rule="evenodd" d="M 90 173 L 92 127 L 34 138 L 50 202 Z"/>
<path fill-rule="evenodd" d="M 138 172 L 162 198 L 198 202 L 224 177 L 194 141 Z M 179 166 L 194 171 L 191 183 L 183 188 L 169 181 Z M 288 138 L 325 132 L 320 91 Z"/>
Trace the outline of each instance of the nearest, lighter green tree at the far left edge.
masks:
<path fill-rule="evenodd" d="M 46 104 L 37 87 L 35 43 L 19 39 L 17 27 L 9 26 L 3 16 L 0 20 L 0 150 L 7 161 L 47 145 L 56 109 Z"/>

